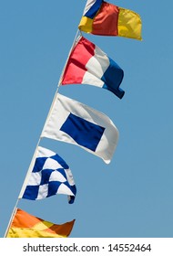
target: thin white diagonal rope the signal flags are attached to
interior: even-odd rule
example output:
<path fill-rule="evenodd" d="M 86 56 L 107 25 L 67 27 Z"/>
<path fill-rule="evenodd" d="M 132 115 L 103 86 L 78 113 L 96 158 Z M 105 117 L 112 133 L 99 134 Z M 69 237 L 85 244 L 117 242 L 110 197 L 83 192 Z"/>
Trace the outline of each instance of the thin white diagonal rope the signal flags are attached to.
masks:
<path fill-rule="evenodd" d="M 69 59 L 69 57 L 70 57 L 70 54 L 71 54 L 73 48 L 75 47 L 76 38 L 78 37 L 78 34 L 82 35 L 82 33 L 81 33 L 81 31 L 80 31 L 79 29 L 77 29 L 77 31 L 76 31 L 76 36 L 75 36 L 75 39 L 74 39 L 74 41 L 73 41 L 73 43 L 72 43 L 72 47 L 71 47 L 70 50 L 69 50 L 69 53 L 68 53 L 68 56 L 67 56 L 67 59 L 66 59 L 66 63 L 67 63 L 67 61 L 68 61 L 68 59 Z M 52 104 L 51 104 L 51 106 L 50 106 L 49 112 L 48 112 L 48 114 L 47 114 L 47 116 L 46 116 L 46 120 L 49 118 L 49 114 L 50 114 L 50 112 L 51 112 L 51 110 L 52 110 L 52 108 L 53 108 L 54 102 L 55 102 L 55 100 L 56 100 L 56 94 L 57 94 L 58 89 L 59 89 L 59 86 L 60 86 L 60 84 L 61 84 L 61 80 L 62 80 L 64 71 L 65 71 L 65 69 L 66 69 L 66 63 L 65 63 L 65 66 L 64 66 L 64 68 L 63 68 L 63 70 L 62 70 L 62 72 L 61 72 L 61 75 L 60 75 L 60 78 L 59 78 L 59 81 L 58 81 L 58 84 L 57 84 L 57 88 L 56 88 L 56 93 L 55 93 L 55 96 L 54 96 L 54 98 L 53 98 Z M 45 122 L 45 124 L 44 124 L 43 129 L 42 129 L 42 132 L 43 132 L 44 129 L 45 129 L 45 125 L 46 125 L 46 122 Z M 42 134 L 42 133 L 41 133 L 41 134 Z M 15 212 L 16 212 L 16 209 L 17 209 L 18 201 L 19 201 L 19 199 L 21 199 L 21 195 L 23 195 L 23 193 L 24 193 L 25 185 L 27 184 L 28 178 L 29 178 L 29 176 L 31 175 L 32 170 L 33 170 L 33 167 L 34 167 L 34 165 L 35 165 L 37 148 L 38 148 L 38 146 L 39 146 L 39 144 L 40 144 L 40 141 L 41 141 L 41 134 L 40 134 L 40 137 L 39 137 L 38 142 L 37 142 L 37 144 L 36 144 L 36 149 L 35 149 L 34 155 L 33 155 L 33 157 L 32 157 L 31 163 L 30 163 L 30 165 L 29 165 L 28 171 L 27 171 L 27 173 L 26 173 L 23 186 L 22 186 L 22 188 L 21 188 L 21 190 L 20 190 L 19 196 L 17 197 L 16 203 L 15 203 L 15 208 L 13 209 L 12 215 L 11 215 L 10 220 L 9 220 L 9 223 L 8 223 L 8 225 L 7 225 L 7 229 L 5 230 L 5 236 L 4 236 L 4 237 L 7 236 L 7 233 L 8 233 L 8 230 L 9 230 L 9 228 L 10 228 L 10 225 L 11 225 L 11 223 L 12 223 L 14 217 L 15 217 Z"/>

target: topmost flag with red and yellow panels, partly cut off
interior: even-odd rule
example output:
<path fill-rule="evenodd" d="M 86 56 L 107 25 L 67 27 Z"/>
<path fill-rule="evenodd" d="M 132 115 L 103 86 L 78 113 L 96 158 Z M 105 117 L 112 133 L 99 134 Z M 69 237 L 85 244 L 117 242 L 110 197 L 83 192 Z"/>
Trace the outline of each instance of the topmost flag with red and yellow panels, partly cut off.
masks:
<path fill-rule="evenodd" d="M 78 28 L 97 36 L 119 36 L 141 40 L 142 22 L 134 11 L 103 0 L 87 0 Z"/>

